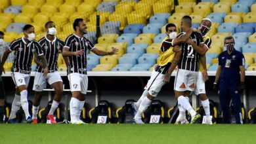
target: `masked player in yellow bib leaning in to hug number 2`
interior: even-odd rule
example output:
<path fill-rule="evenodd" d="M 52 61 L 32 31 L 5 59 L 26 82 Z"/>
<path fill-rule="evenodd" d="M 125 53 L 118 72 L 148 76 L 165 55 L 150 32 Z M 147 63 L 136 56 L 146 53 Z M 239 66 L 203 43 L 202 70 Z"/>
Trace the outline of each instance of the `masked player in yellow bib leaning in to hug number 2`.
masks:
<path fill-rule="evenodd" d="M 142 113 L 146 111 L 146 109 L 150 106 L 151 101 L 156 98 L 158 92 L 161 90 L 161 87 L 166 83 L 163 81 L 165 73 L 167 73 L 167 70 L 171 66 L 171 62 L 173 62 L 175 52 L 180 50 L 179 46 L 174 49 L 173 45 L 179 45 L 186 42 L 192 33 L 192 29 L 190 29 L 190 31 L 188 31 L 184 37 L 175 39 L 177 36 L 177 27 L 175 24 L 167 24 L 165 26 L 165 33 L 167 37 L 165 37 L 163 40 L 160 48 L 160 62 L 152 72 L 150 80 L 146 84 L 142 96 L 140 96 L 140 99 L 136 103 L 132 104 L 135 111 L 134 122 L 136 124 L 144 123 L 141 120 Z"/>

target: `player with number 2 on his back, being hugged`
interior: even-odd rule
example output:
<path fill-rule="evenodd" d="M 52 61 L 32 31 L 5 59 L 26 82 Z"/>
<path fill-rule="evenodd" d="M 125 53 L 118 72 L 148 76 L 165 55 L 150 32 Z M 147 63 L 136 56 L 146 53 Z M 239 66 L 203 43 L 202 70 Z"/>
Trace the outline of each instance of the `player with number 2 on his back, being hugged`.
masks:
<path fill-rule="evenodd" d="M 183 16 L 181 20 L 181 29 L 183 32 L 177 37 L 185 35 L 185 33 L 190 31 L 191 26 L 192 19 L 190 16 Z M 178 99 L 180 113 L 176 123 L 187 123 L 185 115 L 185 111 L 187 110 L 192 117 L 190 123 L 193 124 L 201 116 L 191 107 L 188 96 L 190 95 L 190 92 L 194 91 L 196 86 L 200 55 L 203 55 L 206 52 L 205 47 L 203 46 L 202 34 L 194 31 L 190 35 L 190 39 L 181 45 L 181 49 L 181 51 L 175 54 L 175 60 L 177 62 L 171 64 L 171 68 L 168 70 L 166 77 L 168 78 L 169 75 L 171 75 L 179 62 L 177 75 L 175 77 L 175 97 Z M 205 63 L 203 63 L 203 65 L 206 67 Z"/>

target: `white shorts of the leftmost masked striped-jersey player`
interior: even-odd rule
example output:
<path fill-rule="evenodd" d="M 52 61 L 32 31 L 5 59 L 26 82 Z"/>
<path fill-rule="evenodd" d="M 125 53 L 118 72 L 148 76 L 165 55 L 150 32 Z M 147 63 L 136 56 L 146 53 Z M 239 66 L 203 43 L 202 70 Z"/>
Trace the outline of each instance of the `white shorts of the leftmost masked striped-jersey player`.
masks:
<path fill-rule="evenodd" d="M 15 88 L 17 88 L 18 86 L 22 86 L 22 85 L 28 86 L 28 83 L 30 82 L 30 74 L 14 72 L 14 73 L 12 73 L 12 80 L 14 81 L 14 84 L 16 85 Z"/>

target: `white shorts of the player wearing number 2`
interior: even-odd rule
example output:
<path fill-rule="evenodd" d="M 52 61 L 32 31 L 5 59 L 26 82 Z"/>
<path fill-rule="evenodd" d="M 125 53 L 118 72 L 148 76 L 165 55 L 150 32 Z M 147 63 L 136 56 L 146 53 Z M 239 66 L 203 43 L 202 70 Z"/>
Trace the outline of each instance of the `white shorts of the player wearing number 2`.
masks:
<path fill-rule="evenodd" d="M 188 71 L 178 69 L 175 77 L 174 90 L 179 92 L 191 91 L 194 92 L 196 80 L 198 79 L 198 71 Z"/>

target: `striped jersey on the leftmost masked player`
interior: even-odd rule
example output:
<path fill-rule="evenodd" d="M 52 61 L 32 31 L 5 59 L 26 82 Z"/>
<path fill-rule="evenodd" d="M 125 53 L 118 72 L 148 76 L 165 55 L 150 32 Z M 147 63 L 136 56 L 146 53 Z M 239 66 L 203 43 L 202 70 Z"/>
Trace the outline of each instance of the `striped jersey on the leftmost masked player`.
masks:
<path fill-rule="evenodd" d="M 13 41 L 9 49 L 14 51 L 13 72 L 30 73 L 33 52 L 36 52 L 38 56 L 43 55 L 41 46 L 37 41 L 26 43 L 24 37 Z"/>

